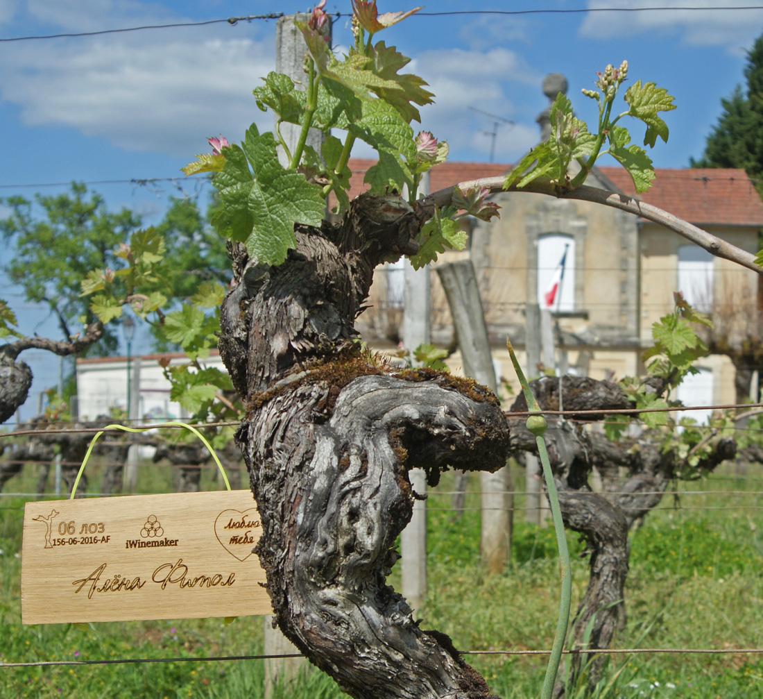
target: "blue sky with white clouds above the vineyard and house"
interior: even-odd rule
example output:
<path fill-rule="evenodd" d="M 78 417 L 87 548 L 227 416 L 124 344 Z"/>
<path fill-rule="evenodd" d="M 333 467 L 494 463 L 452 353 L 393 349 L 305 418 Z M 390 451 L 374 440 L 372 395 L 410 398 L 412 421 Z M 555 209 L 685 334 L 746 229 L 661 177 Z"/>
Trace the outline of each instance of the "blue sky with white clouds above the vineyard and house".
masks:
<path fill-rule="evenodd" d="M 546 106 L 540 83 L 564 73 L 578 116 L 594 119 L 597 70 L 629 61 L 629 79 L 653 81 L 675 96 L 666 121 L 668 144 L 652 150 L 657 167 L 686 167 L 699 157 L 720 115 L 720 99 L 743 82 L 745 50 L 763 33 L 760 9 L 745 0 L 439 0 L 420 15 L 379 35 L 412 57 L 436 103 L 422 110 L 422 128 L 449 142 L 452 160 L 487 162 L 493 122 L 469 107 L 513 121 L 498 131 L 494 160 L 510 162 L 536 141 L 535 118 Z M 414 6 L 380 0 L 380 11 Z M 663 7 L 665 11 L 601 11 Z M 681 10 L 684 8 L 703 8 Z M 720 9 L 711 9 L 720 8 Z M 328 0 L 327 11 L 349 12 L 349 0 Z M 516 15 L 424 15 L 469 10 L 523 11 Z M 540 13 L 539 9 L 565 11 Z M 571 12 L 586 10 L 588 12 Z M 306 11 L 291 0 L 0 0 L 0 38 L 198 22 Z M 275 65 L 275 21 L 226 22 L 146 29 L 89 37 L 0 42 L 0 128 L 5 134 L 0 196 L 59 187 L 26 184 L 72 180 L 131 180 L 180 176 L 179 168 L 209 150 L 205 138 L 238 140 L 251 121 L 270 128 L 251 94 Z M 349 44 L 348 19 L 333 25 L 337 50 Z M 356 155 L 369 155 L 359 150 Z M 127 206 L 148 225 L 159 221 L 167 196 L 192 193 L 192 183 L 146 188 L 95 184 L 113 209 Z M 204 200 L 206 194 L 203 193 Z M 0 216 L 4 215 L 0 202 Z M 0 243 L 0 260 L 11 249 Z M 0 298 L 25 333 L 57 337 L 47 313 L 24 303 L 0 277 Z M 140 335 L 138 337 L 140 341 Z M 33 393 L 56 382 L 56 358 L 30 351 Z M 27 402 L 24 416 L 34 412 Z"/>

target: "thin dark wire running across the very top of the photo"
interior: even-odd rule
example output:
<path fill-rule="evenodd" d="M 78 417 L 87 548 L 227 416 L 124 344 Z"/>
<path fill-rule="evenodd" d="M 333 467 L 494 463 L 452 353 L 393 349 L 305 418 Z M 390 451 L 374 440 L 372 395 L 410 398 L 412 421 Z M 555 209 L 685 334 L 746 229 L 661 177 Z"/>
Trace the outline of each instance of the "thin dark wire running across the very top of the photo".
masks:
<path fill-rule="evenodd" d="M 594 12 L 660 12 L 660 11 L 731 11 L 731 10 L 763 10 L 763 5 L 742 5 L 739 7 L 645 7 L 645 8 L 537 8 L 532 10 L 461 10 L 449 12 L 418 12 L 413 17 L 455 17 L 459 15 L 583 15 Z M 269 12 L 266 15 L 245 15 L 243 17 L 229 17 L 224 19 L 211 19 L 197 22 L 173 22 L 172 24 L 143 24 L 139 27 L 124 27 L 118 29 L 101 29 L 99 31 L 79 31 L 62 34 L 34 34 L 23 37 L 0 38 L 0 42 L 30 41 L 39 39 L 60 39 L 70 37 L 93 37 L 102 34 L 119 34 L 128 31 L 143 31 L 146 29 L 171 29 L 183 27 L 204 27 L 209 24 L 227 23 L 235 26 L 239 22 L 253 20 L 271 20 L 284 17 L 283 12 Z M 346 12 L 336 12 L 332 17 L 352 17 Z"/>

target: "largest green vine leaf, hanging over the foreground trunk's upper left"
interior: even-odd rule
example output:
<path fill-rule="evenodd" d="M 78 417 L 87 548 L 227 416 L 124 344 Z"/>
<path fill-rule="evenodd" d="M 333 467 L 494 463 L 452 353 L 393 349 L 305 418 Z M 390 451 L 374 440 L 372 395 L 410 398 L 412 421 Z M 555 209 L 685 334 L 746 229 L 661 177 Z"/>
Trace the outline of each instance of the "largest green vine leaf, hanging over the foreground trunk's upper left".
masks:
<path fill-rule="evenodd" d="M 212 223 L 224 237 L 246 244 L 259 261 L 281 264 L 295 248 L 295 223 L 320 226 L 323 189 L 301 173 L 285 170 L 273 135 L 260 135 L 254 124 L 241 147 L 225 147 L 223 154 L 225 167 L 212 180 L 223 205 Z"/>

